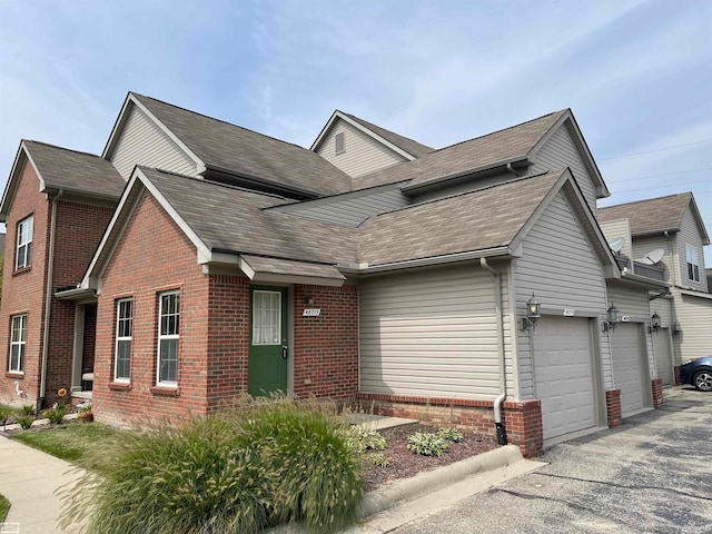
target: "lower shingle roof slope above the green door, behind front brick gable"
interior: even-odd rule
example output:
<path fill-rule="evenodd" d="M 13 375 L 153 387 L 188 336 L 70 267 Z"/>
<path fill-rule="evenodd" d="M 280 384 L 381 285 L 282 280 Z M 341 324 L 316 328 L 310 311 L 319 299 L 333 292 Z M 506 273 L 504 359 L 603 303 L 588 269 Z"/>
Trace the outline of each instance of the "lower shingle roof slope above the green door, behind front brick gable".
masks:
<path fill-rule="evenodd" d="M 180 217 L 214 251 L 325 264 L 356 261 L 356 230 L 265 211 L 285 198 L 141 167 Z"/>

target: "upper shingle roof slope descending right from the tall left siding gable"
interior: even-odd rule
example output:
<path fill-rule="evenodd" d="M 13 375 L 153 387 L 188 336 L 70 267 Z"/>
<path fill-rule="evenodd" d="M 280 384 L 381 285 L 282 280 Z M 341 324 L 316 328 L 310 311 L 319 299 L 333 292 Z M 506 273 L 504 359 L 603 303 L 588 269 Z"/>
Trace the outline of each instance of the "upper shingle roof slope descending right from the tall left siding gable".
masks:
<path fill-rule="evenodd" d="M 207 166 L 317 196 L 350 190 L 350 177 L 306 148 L 131 93 Z"/>

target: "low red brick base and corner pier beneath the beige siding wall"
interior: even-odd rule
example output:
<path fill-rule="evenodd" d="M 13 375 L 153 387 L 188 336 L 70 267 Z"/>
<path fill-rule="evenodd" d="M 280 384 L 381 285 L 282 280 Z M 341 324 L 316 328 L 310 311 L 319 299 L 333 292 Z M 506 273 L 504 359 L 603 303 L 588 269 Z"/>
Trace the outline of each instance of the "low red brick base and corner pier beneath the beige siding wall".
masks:
<path fill-rule="evenodd" d="M 496 437 L 494 403 L 462 398 L 424 398 L 359 393 L 357 399 L 366 412 L 405 417 L 434 425 L 471 428 Z M 534 457 L 542 449 L 542 405 L 540 400 L 507 400 L 502 405 L 507 443 L 517 445 L 522 454 Z"/>

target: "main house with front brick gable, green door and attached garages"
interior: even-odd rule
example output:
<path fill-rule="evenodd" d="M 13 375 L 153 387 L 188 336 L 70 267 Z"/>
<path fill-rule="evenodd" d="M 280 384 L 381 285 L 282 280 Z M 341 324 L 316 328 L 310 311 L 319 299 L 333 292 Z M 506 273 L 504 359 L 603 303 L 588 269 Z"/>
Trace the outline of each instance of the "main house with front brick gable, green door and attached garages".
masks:
<path fill-rule="evenodd" d="M 12 370 L 12 324 L 36 313 L 3 298 L 4 392 L 16 380 L 47 402 L 61 379 L 30 378 L 61 362 L 75 389 L 90 372 L 95 417 L 118 426 L 286 390 L 496 433 L 528 455 L 662 399 L 649 295 L 670 284 L 620 267 L 571 110 L 438 150 L 335 111 L 305 149 L 129 93 L 101 157 L 85 158 L 111 169 L 113 204 L 83 268 L 43 286 L 49 314 L 71 310 L 58 356 L 48 335 L 48 356 L 33 347 Z M 12 172 L 2 214 L 21 258 L 33 211 L 9 199 L 37 185 Z M 63 191 L 39 195 L 43 209 Z"/>

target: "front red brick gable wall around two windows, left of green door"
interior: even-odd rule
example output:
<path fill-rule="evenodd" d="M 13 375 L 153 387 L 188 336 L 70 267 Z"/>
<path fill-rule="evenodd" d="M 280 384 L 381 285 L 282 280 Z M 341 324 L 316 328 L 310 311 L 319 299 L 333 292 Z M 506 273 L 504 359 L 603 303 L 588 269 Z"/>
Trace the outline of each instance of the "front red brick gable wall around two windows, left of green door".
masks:
<path fill-rule="evenodd" d="M 208 277 L 196 248 L 147 192 L 139 199 L 101 280 L 97 307 L 93 406 L 97 421 L 130 426 L 146 418 L 208 409 Z M 158 294 L 180 290 L 178 387 L 156 387 Z M 134 298 L 130 385 L 113 384 L 116 299 Z"/>

